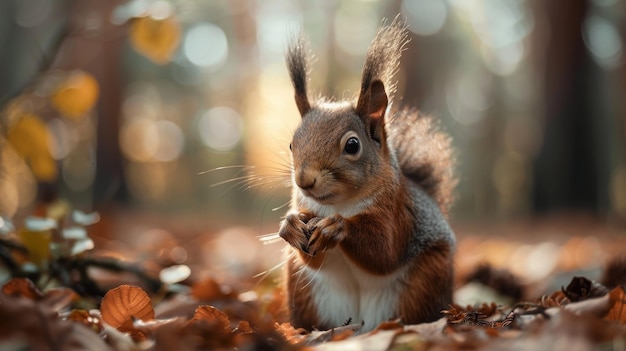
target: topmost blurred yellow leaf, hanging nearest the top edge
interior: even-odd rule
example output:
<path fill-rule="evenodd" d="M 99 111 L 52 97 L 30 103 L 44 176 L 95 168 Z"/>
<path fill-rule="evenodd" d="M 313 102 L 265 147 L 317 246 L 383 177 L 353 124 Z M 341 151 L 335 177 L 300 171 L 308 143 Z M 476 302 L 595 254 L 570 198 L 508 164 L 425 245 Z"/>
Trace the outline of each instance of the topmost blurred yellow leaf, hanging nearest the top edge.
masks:
<path fill-rule="evenodd" d="M 171 59 L 178 46 L 180 31 L 174 17 L 155 19 L 146 16 L 133 22 L 130 41 L 139 53 L 157 64 L 164 64 Z"/>

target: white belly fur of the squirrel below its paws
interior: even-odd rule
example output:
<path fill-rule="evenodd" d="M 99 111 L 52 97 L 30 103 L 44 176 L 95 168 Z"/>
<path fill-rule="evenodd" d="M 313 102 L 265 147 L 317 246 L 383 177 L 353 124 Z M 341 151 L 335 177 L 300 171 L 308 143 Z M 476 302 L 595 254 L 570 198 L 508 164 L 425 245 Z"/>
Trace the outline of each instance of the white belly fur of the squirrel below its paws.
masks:
<path fill-rule="evenodd" d="M 369 274 L 354 265 L 339 248 L 329 251 L 319 269 L 307 268 L 320 319 L 341 326 L 348 319 L 364 322 L 369 331 L 397 316 L 404 273 Z"/>

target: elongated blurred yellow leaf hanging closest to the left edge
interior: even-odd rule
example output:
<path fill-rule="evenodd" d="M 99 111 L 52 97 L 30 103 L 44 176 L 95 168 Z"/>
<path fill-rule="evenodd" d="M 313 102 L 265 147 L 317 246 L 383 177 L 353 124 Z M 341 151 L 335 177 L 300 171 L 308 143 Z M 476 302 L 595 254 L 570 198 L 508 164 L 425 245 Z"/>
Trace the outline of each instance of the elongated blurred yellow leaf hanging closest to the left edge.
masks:
<path fill-rule="evenodd" d="M 51 182 L 57 177 L 57 164 L 48 149 L 48 129 L 39 117 L 25 113 L 9 128 L 8 140 L 31 167 L 39 181 Z"/>

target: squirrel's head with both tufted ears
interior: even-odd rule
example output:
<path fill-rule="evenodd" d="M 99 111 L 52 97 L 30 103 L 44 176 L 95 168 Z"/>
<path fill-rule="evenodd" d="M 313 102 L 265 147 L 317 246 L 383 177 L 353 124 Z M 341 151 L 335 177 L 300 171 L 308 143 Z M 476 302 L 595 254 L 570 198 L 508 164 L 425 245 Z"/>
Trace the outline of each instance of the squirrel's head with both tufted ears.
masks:
<path fill-rule="evenodd" d="M 287 66 L 302 117 L 290 149 L 294 181 L 302 195 L 320 204 L 365 200 L 393 177 L 389 172 L 396 166 L 385 120 L 388 94 L 395 90 L 391 78 L 406 38 L 406 27 L 398 19 L 378 32 L 367 52 L 356 104 L 312 104 L 304 40 L 300 37 L 290 45 Z"/>

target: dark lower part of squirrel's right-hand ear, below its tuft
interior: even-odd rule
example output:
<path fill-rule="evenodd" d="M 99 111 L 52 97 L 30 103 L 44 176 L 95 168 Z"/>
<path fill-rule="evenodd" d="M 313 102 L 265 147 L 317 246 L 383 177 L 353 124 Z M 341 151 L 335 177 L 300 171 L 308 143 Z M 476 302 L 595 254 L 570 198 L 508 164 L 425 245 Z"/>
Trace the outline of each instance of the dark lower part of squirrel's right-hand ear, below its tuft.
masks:
<path fill-rule="evenodd" d="M 378 142 L 384 139 L 384 117 L 388 103 L 385 85 L 380 79 L 376 79 L 367 89 L 361 90 L 356 106 L 357 113 L 368 126 L 371 137 Z"/>

